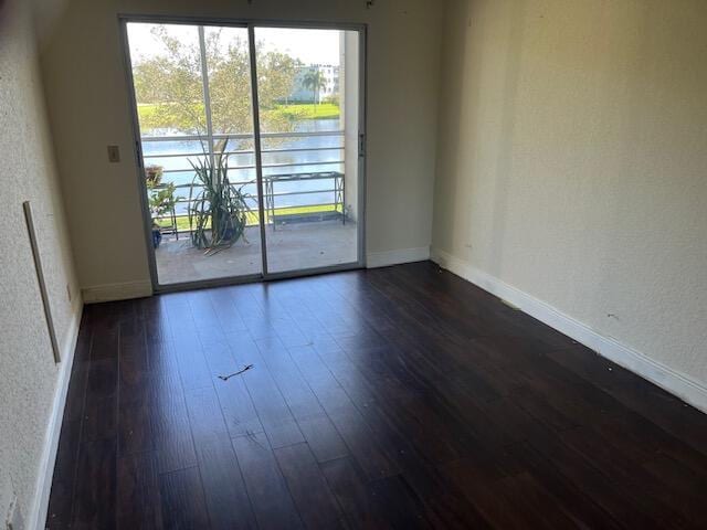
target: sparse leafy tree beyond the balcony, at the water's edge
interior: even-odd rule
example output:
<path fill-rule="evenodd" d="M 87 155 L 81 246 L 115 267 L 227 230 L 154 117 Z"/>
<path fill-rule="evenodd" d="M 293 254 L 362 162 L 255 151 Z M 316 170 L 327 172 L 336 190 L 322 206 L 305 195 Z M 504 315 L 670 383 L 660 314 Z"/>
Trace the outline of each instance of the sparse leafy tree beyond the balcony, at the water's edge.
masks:
<path fill-rule="evenodd" d="M 170 35 L 163 25 L 152 34 L 166 50 L 137 62 L 135 91 L 140 105 L 144 131 L 172 129 L 186 135 L 205 135 L 201 52 L 196 40 L 186 42 Z M 222 28 L 205 29 L 205 57 L 215 134 L 246 134 L 253 130 L 249 46 Z M 292 120 L 274 112 L 287 97 L 300 63 L 281 52 L 257 46 L 257 78 L 261 127 L 264 131 L 286 132 Z M 245 142 L 243 142 L 245 144 Z"/>

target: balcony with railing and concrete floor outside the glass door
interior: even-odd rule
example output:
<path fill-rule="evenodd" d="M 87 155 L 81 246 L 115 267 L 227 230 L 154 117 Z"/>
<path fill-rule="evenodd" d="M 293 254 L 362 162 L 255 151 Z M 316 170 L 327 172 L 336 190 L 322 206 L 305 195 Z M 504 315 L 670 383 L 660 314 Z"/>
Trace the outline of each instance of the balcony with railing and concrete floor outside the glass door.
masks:
<path fill-rule="evenodd" d="M 155 248 L 160 285 L 250 276 L 262 273 L 262 239 L 252 135 L 214 135 L 235 148 L 229 157 L 231 186 L 241 189 L 250 208 L 244 234 L 232 246 L 204 251 L 192 245 L 190 209 L 202 189 L 193 182 L 189 160 L 203 158 L 199 136 L 143 137 L 146 166 L 162 167 L 156 193 L 173 184 L 178 198 L 166 213 L 152 215 L 161 241 Z M 262 136 L 263 205 L 268 272 L 331 267 L 358 261 L 356 180 L 344 173 L 340 130 L 275 132 Z M 187 149 L 191 147 L 191 149 Z M 354 199 L 354 201 L 351 201 Z"/>

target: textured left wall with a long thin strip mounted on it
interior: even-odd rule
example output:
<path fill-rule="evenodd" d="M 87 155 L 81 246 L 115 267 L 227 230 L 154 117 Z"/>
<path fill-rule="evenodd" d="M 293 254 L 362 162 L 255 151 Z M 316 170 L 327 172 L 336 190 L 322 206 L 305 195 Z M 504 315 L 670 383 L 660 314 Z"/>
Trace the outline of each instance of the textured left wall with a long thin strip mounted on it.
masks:
<path fill-rule="evenodd" d="M 30 200 L 60 344 L 78 299 L 48 137 L 27 3 L 0 10 L 0 524 L 14 496 L 28 519 L 59 369 L 46 331 L 22 202 Z"/>

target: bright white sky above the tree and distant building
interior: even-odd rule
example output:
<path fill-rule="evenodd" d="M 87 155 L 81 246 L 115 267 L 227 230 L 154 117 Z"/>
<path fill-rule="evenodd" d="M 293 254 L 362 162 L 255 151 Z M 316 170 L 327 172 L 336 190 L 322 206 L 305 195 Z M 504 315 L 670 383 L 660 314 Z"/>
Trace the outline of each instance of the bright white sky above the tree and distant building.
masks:
<path fill-rule="evenodd" d="M 149 57 L 163 51 L 152 38 L 150 29 L 155 24 L 128 23 L 128 39 L 134 60 Z M 224 31 L 247 40 L 244 28 L 229 28 Z M 169 24 L 172 36 L 198 42 L 197 26 Z M 339 63 L 339 31 L 337 30 L 292 30 L 286 28 L 256 28 L 255 42 L 267 50 L 287 52 L 305 64 L 338 64 Z"/>

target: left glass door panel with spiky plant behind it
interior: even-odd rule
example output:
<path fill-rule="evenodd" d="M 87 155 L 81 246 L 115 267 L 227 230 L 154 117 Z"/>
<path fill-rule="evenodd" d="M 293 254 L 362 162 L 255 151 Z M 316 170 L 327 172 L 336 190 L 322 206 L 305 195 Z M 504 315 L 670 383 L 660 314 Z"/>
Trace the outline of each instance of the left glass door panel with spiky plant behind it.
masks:
<path fill-rule="evenodd" d="M 158 284 L 261 275 L 247 29 L 127 35 Z"/>

